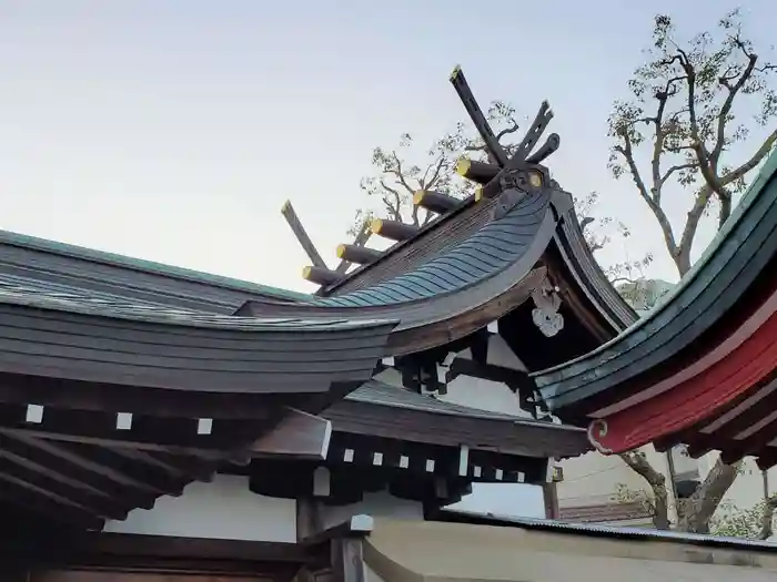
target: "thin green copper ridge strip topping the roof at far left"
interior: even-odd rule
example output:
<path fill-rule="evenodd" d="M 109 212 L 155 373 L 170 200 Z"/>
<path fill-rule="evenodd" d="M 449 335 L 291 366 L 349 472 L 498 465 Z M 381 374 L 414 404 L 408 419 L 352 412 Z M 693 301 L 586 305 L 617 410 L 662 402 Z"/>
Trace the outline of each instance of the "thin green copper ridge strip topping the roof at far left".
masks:
<path fill-rule="evenodd" d="M 165 277 L 173 277 L 195 283 L 204 283 L 240 292 L 256 293 L 276 297 L 279 299 L 309 300 L 311 298 L 311 296 L 305 293 L 279 289 L 276 287 L 259 285 L 256 283 L 250 283 L 246 280 L 222 277 L 221 275 L 212 275 L 210 273 L 202 273 L 199 270 L 192 270 L 182 267 L 173 267 L 171 265 L 163 265 L 161 263 L 154 263 L 152 261 L 143 261 L 140 258 L 118 255 L 115 253 L 94 251 L 92 248 L 58 243 L 54 241 L 48 241 L 46 238 L 38 238 L 34 236 L 11 233 L 9 231 L 0 231 L 0 244 L 31 248 L 36 251 L 42 251 L 46 253 L 53 253 L 73 258 L 90 261 L 93 263 L 102 263 L 105 265 L 135 269 L 144 273 L 153 273 L 155 275 L 162 275 Z"/>

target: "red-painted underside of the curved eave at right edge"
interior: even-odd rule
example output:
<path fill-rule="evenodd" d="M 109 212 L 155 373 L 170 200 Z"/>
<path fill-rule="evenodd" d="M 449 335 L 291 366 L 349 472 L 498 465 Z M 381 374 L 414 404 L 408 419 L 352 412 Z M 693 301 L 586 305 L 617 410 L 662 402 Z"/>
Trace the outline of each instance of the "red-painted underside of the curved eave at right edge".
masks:
<path fill-rule="evenodd" d="M 694 456 L 717 449 L 727 461 L 754 456 L 768 468 L 777 464 L 776 378 L 777 285 L 699 359 L 599 411 L 589 435 L 613 452 L 683 442 Z"/>

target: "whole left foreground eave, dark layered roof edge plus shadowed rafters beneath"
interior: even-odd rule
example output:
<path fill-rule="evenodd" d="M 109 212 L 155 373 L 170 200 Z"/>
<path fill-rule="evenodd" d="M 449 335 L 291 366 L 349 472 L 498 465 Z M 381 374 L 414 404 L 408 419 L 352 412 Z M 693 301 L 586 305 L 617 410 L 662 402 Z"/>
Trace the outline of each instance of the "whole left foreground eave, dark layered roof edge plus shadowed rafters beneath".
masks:
<path fill-rule="evenodd" d="M 0 290 L 0 501 L 67 528 L 100 529 L 249 462 L 292 409 L 316 413 L 369 379 L 394 327 L 30 283 L 2 278 Z"/>

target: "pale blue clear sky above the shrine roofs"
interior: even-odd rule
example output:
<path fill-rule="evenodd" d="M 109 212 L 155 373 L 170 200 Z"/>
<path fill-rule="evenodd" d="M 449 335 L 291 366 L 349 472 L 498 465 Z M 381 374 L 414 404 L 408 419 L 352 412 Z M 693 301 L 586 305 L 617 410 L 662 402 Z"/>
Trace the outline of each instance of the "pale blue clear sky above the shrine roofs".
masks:
<path fill-rule="evenodd" d="M 0 227 L 306 289 L 283 201 L 332 258 L 372 147 L 463 118 L 447 82 L 461 63 L 482 102 L 533 115 L 551 101 L 552 171 L 601 191 L 668 277 L 647 211 L 606 170 L 605 122 L 655 12 L 693 32 L 734 6 L 0 0 Z M 765 45 L 777 4 L 747 6 Z"/>

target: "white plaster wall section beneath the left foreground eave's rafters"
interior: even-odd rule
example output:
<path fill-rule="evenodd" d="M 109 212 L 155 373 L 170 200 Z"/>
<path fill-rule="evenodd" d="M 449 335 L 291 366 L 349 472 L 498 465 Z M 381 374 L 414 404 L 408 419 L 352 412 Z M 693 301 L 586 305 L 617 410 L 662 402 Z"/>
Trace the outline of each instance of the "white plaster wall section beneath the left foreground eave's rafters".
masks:
<path fill-rule="evenodd" d="M 109 521 L 110 532 L 296 541 L 296 502 L 258 496 L 246 477 L 216 476 L 189 484 L 181 497 L 162 497 L 152 509 L 135 509 L 124 521 Z"/>

